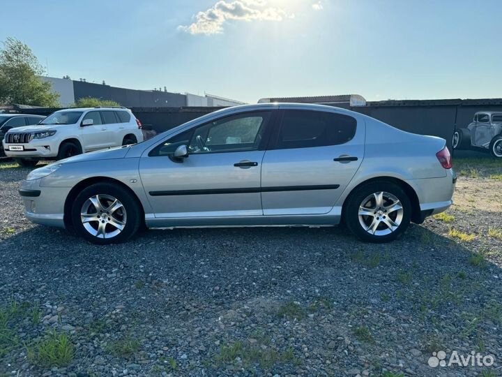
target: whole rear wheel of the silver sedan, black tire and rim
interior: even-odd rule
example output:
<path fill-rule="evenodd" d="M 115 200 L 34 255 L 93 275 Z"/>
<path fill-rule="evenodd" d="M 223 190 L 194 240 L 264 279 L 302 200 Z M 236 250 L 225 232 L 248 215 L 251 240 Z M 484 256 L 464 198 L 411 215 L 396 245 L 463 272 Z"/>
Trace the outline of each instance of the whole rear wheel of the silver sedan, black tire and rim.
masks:
<path fill-rule="evenodd" d="M 344 206 L 347 228 L 365 242 L 390 242 L 408 228 L 411 202 L 393 182 L 368 182 L 356 188 Z"/>

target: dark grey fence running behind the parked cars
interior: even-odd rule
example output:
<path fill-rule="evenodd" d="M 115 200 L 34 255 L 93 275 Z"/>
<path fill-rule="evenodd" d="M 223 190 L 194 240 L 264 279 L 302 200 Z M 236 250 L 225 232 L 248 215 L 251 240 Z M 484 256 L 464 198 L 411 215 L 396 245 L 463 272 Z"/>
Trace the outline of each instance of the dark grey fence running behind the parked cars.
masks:
<path fill-rule="evenodd" d="M 411 133 L 434 135 L 447 140 L 452 151 L 452 135 L 455 128 L 465 128 L 478 111 L 502 111 L 502 98 L 482 100 L 425 100 L 425 101 L 379 101 L 366 106 L 348 107 L 367 114 L 391 126 Z M 131 108 L 144 125 L 157 133 L 221 108 Z M 48 115 L 59 109 L 36 108 L 20 110 L 30 114 Z M 149 128 L 149 127 L 148 127 Z"/>

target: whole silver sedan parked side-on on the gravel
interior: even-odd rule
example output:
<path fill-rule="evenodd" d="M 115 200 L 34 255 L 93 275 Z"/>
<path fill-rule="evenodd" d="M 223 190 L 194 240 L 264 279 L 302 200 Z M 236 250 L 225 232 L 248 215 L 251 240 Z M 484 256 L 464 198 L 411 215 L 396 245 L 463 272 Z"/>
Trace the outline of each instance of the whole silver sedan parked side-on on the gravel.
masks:
<path fill-rule="evenodd" d="M 26 217 L 96 244 L 139 228 L 335 226 L 388 242 L 452 204 L 445 140 L 322 105 L 243 105 L 33 170 Z"/>

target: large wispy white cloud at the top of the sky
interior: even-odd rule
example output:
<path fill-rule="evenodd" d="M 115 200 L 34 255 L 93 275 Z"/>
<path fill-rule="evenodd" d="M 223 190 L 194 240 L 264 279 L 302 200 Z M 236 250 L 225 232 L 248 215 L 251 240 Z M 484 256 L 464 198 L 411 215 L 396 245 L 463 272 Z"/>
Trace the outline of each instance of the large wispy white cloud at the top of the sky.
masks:
<path fill-rule="evenodd" d="M 282 21 L 289 17 L 294 15 L 288 15 L 281 8 L 266 6 L 265 0 L 220 0 L 208 10 L 197 13 L 195 22 L 178 29 L 190 34 L 218 34 L 222 33 L 228 20 Z"/>

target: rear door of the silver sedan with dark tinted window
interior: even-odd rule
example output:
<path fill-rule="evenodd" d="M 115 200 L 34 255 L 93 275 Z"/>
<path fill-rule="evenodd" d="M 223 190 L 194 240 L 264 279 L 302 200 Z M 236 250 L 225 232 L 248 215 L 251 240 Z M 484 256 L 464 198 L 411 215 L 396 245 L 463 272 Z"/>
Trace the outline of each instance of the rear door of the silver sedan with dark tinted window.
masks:
<path fill-rule="evenodd" d="M 326 214 L 363 160 L 364 121 L 337 112 L 282 109 L 261 167 L 264 215 Z"/>

